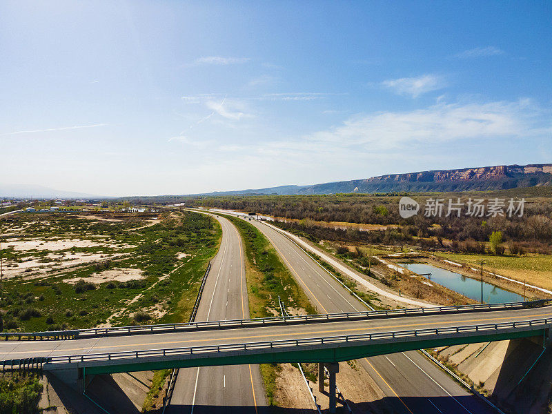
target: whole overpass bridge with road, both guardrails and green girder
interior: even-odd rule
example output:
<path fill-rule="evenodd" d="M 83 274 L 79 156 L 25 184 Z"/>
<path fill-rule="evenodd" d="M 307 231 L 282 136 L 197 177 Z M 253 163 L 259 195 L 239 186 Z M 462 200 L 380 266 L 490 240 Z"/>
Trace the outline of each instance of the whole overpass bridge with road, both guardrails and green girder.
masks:
<path fill-rule="evenodd" d="M 552 306 L 544 302 L 3 333 L 0 364 L 4 369 L 42 368 L 68 381 L 190 366 L 330 364 L 435 346 L 544 339 L 552 325 Z M 48 339 L 60 335 L 72 339 Z"/>

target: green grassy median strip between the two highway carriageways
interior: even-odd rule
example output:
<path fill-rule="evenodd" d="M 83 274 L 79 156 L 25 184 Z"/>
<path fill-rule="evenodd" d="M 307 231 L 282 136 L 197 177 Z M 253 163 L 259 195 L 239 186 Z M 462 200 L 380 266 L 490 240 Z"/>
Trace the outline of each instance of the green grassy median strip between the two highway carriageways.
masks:
<path fill-rule="evenodd" d="M 239 230 L 246 253 L 246 281 L 251 317 L 279 315 L 278 296 L 293 308 L 293 312 L 317 313 L 288 268 L 280 261 L 268 239 L 242 219 L 224 215 Z M 268 405 L 276 405 L 276 379 L 282 368 L 279 364 L 261 364 Z"/>

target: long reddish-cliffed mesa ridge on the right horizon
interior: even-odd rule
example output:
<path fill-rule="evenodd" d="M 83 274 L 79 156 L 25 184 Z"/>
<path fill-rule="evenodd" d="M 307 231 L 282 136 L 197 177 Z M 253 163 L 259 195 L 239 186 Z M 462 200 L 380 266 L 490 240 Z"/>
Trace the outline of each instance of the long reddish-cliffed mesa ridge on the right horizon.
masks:
<path fill-rule="evenodd" d="M 552 164 L 492 166 L 379 175 L 312 186 L 279 186 L 201 195 L 308 195 L 335 193 L 393 193 L 428 191 L 484 191 L 552 186 Z"/>

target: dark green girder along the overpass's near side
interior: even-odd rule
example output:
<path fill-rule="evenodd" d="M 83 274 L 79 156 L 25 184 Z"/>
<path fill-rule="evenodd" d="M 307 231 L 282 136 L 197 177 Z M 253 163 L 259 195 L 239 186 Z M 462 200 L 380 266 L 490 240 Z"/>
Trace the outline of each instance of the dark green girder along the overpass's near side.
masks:
<path fill-rule="evenodd" d="M 373 357 L 404 351 L 415 351 L 418 349 L 435 348 L 437 346 L 451 346 L 460 344 L 474 344 L 477 342 L 495 342 L 506 339 L 517 339 L 523 337 L 546 337 L 547 328 L 537 328 L 526 331 L 513 331 L 506 333 L 484 333 L 481 335 L 454 335 L 442 338 L 425 338 L 420 340 L 408 340 L 402 342 L 397 339 L 395 342 L 380 344 L 362 344 L 343 346 L 343 344 L 328 344 L 324 348 L 297 349 L 297 351 L 269 351 L 266 353 L 249 353 L 247 355 L 224 355 L 210 357 L 193 357 L 188 355 L 167 356 L 154 362 L 132 362 L 119 364 L 117 360 L 106 361 L 106 364 L 97 363 L 84 368 L 84 375 L 128 373 L 133 371 L 152 371 L 166 368 L 188 368 L 195 366 L 221 366 L 221 365 L 246 365 L 246 364 L 270 364 L 270 363 L 293 363 L 293 362 L 342 362 L 351 359 Z M 78 366 L 79 364 L 77 364 Z M 48 370 L 48 366 L 44 367 Z M 83 368 L 79 366 L 79 368 Z"/>

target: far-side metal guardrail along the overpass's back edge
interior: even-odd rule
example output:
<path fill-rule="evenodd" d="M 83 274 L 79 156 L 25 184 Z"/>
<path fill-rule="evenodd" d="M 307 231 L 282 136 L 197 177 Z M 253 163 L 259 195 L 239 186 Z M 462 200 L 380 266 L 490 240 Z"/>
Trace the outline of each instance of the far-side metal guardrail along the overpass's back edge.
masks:
<path fill-rule="evenodd" d="M 302 322 L 339 322 L 359 319 L 372 319 L 378 317 L 402 317 L 439 315 L 447 313 L 460 313 L 464 311 L 502 311 L 520 308 L 534 308 L 545 306 L 552 299 L 540 299 L 532 302 L 509 302 L 504 304 L 474 304 L 459 306 L 438 306 L 433 308 L 401 308 L 383 311 L 347 312 L 347 313 L 323 313 L 317 315 L 297 315 L 286 317 L 266 317 L 256 319 L 227 319 L 223 321 L 190 322 L 179 324 L 157 324 L 119 326 L 111 328 L 88 328 L 72 331 L 45 331 L 45 332 L 3 332 L 0 338 L 8 339 L 79 339 L 88 337 L 107 337 L 116 335 L 149 335 L 152 333 L 171 333 L 179 331 L 199 331 L 215 328 L 248 328 L 255 326 L 277 326 L 282 324 L 299 324 Z"/>

